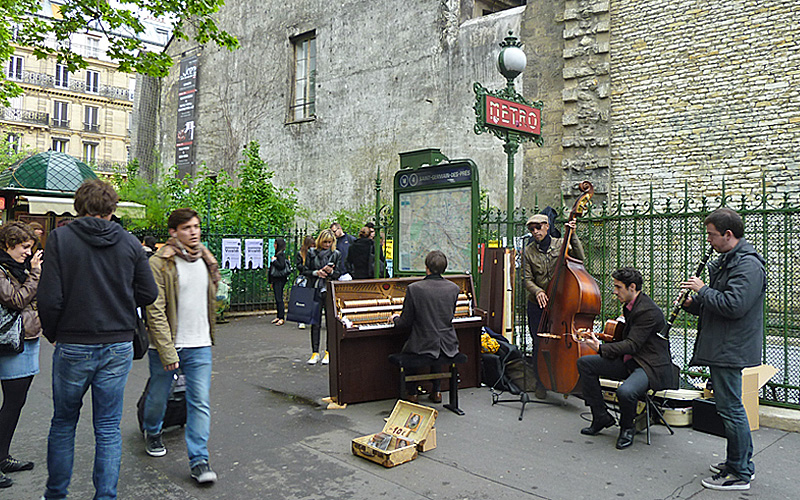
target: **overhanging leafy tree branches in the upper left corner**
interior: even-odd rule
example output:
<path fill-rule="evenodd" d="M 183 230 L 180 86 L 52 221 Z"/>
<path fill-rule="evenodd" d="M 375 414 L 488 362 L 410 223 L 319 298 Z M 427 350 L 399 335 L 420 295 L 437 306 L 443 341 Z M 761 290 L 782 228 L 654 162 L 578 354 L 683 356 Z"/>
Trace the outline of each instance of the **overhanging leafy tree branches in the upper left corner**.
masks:
<path fill-rule="evenodd" d="M 69 40 L 73 33 L 99 32 L 108 41 L 106 55 L 118 65 L 119 71 L 141 73 L 154 77 L 166 76 L 172 58 L 163 53 L 148 52 L 141 40 L 145 16 L 174 19 L 173 37 L 191 38 L 200 44 L 214 42 L 220 47 L 235 50 L 239 41 L 219 29 L 212 15 L 225 0 L 63 0 L 58 18 L 32 13 L 41 11 L 40 0 L 3 0 L 0 3 L 0 61 L 13 54 L 13 42 L 31 47 L 38 59 L 56 57 L 70 72 L 87 66 L 80 54 L 73 52 Z M 55 41 L 55 43 L 53 43 Z M 22 89 L 5 79 L 5 64 L 0 68 L 0 104 L 7 106 L 8 98 L 20 95 Z"/>

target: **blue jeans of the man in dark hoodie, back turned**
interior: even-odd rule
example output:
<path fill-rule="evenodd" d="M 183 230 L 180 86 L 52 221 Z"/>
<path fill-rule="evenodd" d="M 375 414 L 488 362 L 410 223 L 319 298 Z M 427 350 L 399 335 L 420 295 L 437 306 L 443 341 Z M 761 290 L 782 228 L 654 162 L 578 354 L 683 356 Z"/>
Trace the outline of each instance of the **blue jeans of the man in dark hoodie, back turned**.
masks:
<path fill-rule="evenodd" d="M 53 352 L 53 420 L 47 438 L 48 500 L 67 498 L 75 454 L 75 427 L 83 396 L 92 388 L 95 500 L 117 498 L 122 457 L 125 383 L 133 361 L 131 342 L 116 344 L 57 343 Z"/>

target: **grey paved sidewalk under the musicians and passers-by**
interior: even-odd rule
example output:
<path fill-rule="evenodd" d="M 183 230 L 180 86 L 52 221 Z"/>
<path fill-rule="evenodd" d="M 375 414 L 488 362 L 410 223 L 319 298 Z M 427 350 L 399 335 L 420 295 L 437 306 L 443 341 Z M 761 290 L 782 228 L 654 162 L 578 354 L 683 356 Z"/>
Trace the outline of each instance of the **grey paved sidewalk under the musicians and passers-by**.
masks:
<path fill-rule="evenodd" d="M 795 464 L 800 434 L 762 428 L 754 433 L 757 479 L 748 492 L 705 490 L 708 465 L 724 458 L 725 440 L 676 428 L 653 427 L 627 450 L 616 450 L 617 428 L 579 434 L 587 416 L 581 401 L 551 395 L 562 406 L 492 406 L 486 388 L 462 390 L 463 417 L 441 405 L 438 448 L 393 469 L 356 457 L 350 440 L 380 430 L 395 401 L 325 410 L 327 367 L 305 364 L 309 330 L 273 316 L 219 325 L 214 348 L 211 464 L 219 481 L 197 487 L 189 476 L 183 432 L 165 434 L 165 457 L 151 458 L 136 422 L 136 400 L 147 363 L 135 361 L 125 394 L 119 498 L 126 499 L 717 499 L 797 498 Z M 11 452 L 34 460 L 14 473 L 0 499 L 38 499 L 46 480 L 46 440 L 52 413 L 52 347 L 42 344 L 42 373 L 34 379 Z M 445 400 L 447 395 L 445 394 Z M 91 498 L 91 400 L 87 395 L 76 437 L 70 498 Z M 795 493 L 792 493 L 792 492 Z"/>

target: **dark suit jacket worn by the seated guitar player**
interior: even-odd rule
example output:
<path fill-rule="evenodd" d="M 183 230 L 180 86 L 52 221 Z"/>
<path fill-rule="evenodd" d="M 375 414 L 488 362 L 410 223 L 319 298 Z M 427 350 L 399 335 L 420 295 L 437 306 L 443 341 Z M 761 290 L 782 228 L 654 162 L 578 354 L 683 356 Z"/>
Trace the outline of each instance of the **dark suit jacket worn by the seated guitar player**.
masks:
<path fill-rule="evenodd" d="M 625 316 L 623 340 L 600 346 L 600 355 L 604 358 L 621 358 L 630 354 L 639 363 L 654 391 L 673 388 L 672 358 L 669 354 L 669 341 L 662 339 L 658 333 L 664 329 L 664 313 L 653 299 L 640 293 L 628 311 L 622 308 Z"/>

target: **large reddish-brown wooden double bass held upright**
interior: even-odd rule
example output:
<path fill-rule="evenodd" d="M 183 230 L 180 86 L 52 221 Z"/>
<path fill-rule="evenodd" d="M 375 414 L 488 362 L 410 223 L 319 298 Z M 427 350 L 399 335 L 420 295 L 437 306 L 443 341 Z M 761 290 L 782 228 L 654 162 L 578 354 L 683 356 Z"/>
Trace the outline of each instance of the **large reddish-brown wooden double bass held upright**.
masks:
<path fill-rule="evenodd" d="M 569 221 L 586 211 L 594 187 L 589 181 L 580 184 L 583 193 L 572 207 Z M 600 314 L 600 287 L 583 267 L 583 261 L 569 255 L 569 242 L 574 229 L 566 226 L 564 244 L 555 272 L 547 287 L 547 306 L 542 311 L 537 335 L 537 371 L 539 380 L 550 391 L 570 394 L 578 385 L 578 358 L 596 354 L 583 342 L 575 342 L 573 333 L 592 330 L 594 318 Z"/>

